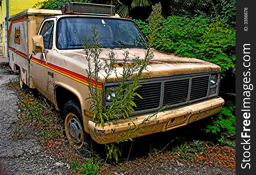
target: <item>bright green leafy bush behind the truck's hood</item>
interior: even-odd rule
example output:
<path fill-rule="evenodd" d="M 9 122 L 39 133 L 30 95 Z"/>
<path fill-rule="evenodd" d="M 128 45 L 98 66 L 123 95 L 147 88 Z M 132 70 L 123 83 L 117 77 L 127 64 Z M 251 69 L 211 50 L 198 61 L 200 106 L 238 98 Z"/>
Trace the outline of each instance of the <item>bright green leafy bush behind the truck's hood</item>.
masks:
<path fill-rule="evenodd" d="M 136 24 L 147 34 L 147 22 L 136 20 Z M 157 50 L 212 62 L 223 73 L 235 67 L 235 29 L 227 29 L 223 22 L 205 16 L 169 16 L 163 19 L 154 40 Z"/>

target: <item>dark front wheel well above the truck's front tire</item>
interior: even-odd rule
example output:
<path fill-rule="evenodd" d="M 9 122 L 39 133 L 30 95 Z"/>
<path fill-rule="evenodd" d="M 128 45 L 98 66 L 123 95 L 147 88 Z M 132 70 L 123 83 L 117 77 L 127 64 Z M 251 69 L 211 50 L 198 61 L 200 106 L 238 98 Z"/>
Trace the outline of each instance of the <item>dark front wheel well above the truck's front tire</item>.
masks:
<path fill-rule="evenodd" d="M 54 93 L 55 104 L 57 105 L 56 107 L 60 111 L 62 111 L 62 109 L 64 108 L 64 105 L 70 100 L 75 101 L 81 108 L 79 98 L 73 92 L 70 92 L 66 88 L 63 88 L 62 86 L 59 86 L 59 85 L 55 86 L 54 92 L 55 92 Z"/>

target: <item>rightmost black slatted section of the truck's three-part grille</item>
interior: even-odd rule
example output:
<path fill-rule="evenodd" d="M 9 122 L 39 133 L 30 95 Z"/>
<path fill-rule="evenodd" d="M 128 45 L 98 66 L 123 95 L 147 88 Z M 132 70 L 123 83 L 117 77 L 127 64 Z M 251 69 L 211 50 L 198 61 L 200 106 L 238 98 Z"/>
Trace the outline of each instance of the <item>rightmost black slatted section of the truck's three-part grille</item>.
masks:
<path fill-rule="evenodd" d="M 207 96 L 209 76 L 192 78 L 190 101 Z"/>

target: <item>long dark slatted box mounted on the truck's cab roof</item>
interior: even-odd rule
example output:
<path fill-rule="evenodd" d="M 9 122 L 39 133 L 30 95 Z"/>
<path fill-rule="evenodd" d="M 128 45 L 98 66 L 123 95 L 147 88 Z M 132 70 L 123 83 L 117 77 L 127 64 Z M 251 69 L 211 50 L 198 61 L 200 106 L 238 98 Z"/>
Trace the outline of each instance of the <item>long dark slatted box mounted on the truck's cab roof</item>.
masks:
<path fill-rule="evenodd" d="M 115 15 L 115 10 L 115 6 L 103 4 L 66 2 L 61 5 L 62 14 Z"/>

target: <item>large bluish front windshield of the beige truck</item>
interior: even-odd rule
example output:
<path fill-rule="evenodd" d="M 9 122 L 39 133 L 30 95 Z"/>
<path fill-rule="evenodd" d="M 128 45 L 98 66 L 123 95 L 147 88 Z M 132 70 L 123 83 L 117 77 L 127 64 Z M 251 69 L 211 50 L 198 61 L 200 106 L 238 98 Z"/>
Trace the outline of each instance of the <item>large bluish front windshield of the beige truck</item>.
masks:
<path fill-rule="evenodd" d="M 92 43 L 92 26 L 98 27 L 101 46 L 105 48 L 146 48 L 146 40 L 131 21 L 109 18 L 62 18 L 58 23 L 57 46 L 82 48 L 87 34 Z"/>

